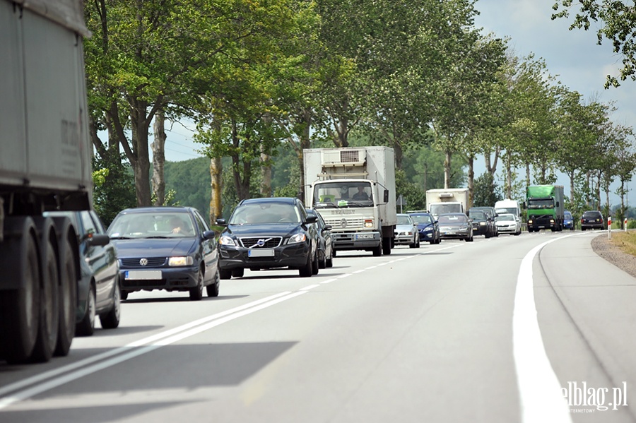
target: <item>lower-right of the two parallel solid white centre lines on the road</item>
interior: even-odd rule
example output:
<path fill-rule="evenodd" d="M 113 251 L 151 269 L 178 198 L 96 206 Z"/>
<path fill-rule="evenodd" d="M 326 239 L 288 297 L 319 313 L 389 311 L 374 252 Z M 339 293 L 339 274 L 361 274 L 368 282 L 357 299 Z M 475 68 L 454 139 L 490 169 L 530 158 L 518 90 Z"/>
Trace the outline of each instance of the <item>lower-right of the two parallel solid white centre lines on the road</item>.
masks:
<path fill-rule="evenodd" d="M 265 302 L 264 304 L 260 304 L 258 306 L 254 306 L 251 307 L 249 309 L 245 309 L 242 311 L 238 311 L 235 314 L 230 314 L 228 316 L 225 316 L 223 318 L 218 318 L 217 320 L 208 322 L 204 325 L 198 326 L 196 328 L 192 328 L 190 330 L 187 330 L 185 332 L 182 333 L 177 333 L 176 335 L 173 335 L 171 337 L 168 338 L 163 338 L 161 340 L 158 340 L 157 342 L 151 344 L 151 345 L 146 345 L 144 347 L 140 347 L 140 348 L 136 348 L 134 350 L 131 350 L 129 352 L 127 352 L 126 354 L 122 354 L 119 355 L 117 357 L 113 357 L 111 359 L 108 359 L 104 362 L 99 362 L 97 364 L 93 364 L 92 366 L 89 367 L 84 367 L 83 369 L 79 369 L 77 371 L 73 371 L 69 374 L 65 374 L 64 376 L 61 376 L 59 378 L 56 379 L 51 379 L 45 383 L 41 383 L 40 385 L 34 386 L 33 388 L 28 388 L 25 389 L 24 391 L 19 391 L 17 393 L 14 393 L 12 395 L 8 395 L 5 398 L 2 398 L 0 400 L 0 410 L 8 407 L 9 405 L 13 404 L 13 403 L 17 403 L 18 401 L 22 401 L 22 400 L 26 400 L 28 398 L 31 398 L 35 395 L 38 395 L 40 393 L 49 391 L 52 388 L 57 388 L 57 386 L 61 386 L 64 385 L 64 383 L 69 383 L 71 381 L 75 381 L 76 379 L 80 379 L 84 376 L 88 376 L 89 374 L 93 374 L 96 371 L 100 371 L 103 369 L 107 369 L 108 367 L 112 367 L 115 364 L 119 364 L 122 362 L 125 362 L 129 359 L 132 359 L 134 357 L 139 357 L 140 355 L 144 355 L 147 354 L 148 352 L 151 352 L 153 350 L 157 350 L 160 347 L 163 347 L 165 345 L 170 345 L 174 342 L 177 342 L 179 340 L 182 340 L 184 338 L 189 338 L 190 336 L 196 335 L 198 333 L 204 332 L 205 330 L 214 328 L 216 326 L 219 326 L 223 323 L 227 323 L 228 321 L 232 321 L 235 318 L 239 318 L 242 316 L 247 316 L 247 314 L 252 314 L 255 311 L 259 311 L 262 309 L 266 309 L 269 306 L 273 306 L 274 304 L 278 304 L 280 302 L 283 301 L 287 301 L 288 299 L 292 299 L 294 297 L 298 297 L 299 295 L 305 294 L 306 292 L 293 292 L 291 294 L 285 295 L 284 297 L 280 297 L 277 295 L 278 298 L 276 299 L 272 299 L 270 302 Z"/>

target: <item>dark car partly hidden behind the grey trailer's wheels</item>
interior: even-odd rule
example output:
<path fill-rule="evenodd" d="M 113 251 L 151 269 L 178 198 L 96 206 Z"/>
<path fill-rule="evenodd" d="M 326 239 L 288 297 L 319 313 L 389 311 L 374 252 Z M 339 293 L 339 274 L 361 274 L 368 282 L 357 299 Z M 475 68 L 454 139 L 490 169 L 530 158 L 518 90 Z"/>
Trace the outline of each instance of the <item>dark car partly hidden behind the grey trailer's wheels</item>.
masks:
<path fill-rule="evenodd" d="M 100 316 L 102 328 L 117 328 L 121 316 L 119 263 L 100 218 L 93 210 L 46 214 L 69 218 L 78 230 L 81 279 L 77 284 L 76 335 L 93 335 L 96 316 Z"/>

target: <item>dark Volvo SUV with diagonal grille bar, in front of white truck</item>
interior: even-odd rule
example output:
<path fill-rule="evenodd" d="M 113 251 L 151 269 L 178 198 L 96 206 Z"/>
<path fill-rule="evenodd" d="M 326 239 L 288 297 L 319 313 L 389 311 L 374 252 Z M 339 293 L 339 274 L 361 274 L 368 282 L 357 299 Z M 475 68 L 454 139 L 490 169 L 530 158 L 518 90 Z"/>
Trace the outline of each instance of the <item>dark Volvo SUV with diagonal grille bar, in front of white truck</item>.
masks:
<path fill-rule="evenodd" d="M 248 198 L 230 216 L 219 237 L 221 279 L 240 278 L 245 269 L 290 268 L 307 277 L 318 273 L 316 216 L 298 198 Z"/>

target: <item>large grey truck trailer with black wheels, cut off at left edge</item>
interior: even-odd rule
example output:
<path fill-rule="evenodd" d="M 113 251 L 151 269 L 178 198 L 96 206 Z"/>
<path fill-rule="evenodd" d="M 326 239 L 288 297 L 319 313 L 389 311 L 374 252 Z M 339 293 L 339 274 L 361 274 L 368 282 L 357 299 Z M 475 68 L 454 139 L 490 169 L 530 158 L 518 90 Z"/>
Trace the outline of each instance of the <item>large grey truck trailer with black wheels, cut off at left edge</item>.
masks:
<path fill-rule="evenodd" d="M 93 180 L 81 0 L 0 0 L 0 359 L 66 355 Z"/>

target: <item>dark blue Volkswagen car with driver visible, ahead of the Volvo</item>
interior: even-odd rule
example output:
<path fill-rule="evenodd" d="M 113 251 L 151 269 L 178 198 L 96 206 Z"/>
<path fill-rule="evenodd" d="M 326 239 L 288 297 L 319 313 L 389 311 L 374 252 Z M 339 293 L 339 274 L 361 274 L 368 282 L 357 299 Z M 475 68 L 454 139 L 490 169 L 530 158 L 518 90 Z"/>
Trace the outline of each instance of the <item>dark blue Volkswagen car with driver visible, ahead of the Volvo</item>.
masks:
<path fill-rule="evenodd" d="M 120 212 L 108 227 L 117 246 L 122 299 L 135 291 L 186 291 L 217 297 L 216 232 L 192 207 L 143 207 Z"/>

